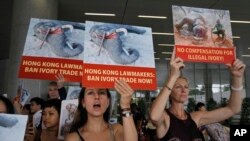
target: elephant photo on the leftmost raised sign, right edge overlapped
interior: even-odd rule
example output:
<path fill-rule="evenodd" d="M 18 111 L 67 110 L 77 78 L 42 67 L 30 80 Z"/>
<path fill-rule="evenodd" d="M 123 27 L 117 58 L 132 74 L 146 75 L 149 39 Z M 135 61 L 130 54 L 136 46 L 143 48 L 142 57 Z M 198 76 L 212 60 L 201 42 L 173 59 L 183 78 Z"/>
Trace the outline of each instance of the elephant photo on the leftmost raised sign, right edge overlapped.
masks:
<path fill-rule="evenodd" d="M 32 18 L 23 55 L 83 60 L 84 31 L 83 23 Z"/>

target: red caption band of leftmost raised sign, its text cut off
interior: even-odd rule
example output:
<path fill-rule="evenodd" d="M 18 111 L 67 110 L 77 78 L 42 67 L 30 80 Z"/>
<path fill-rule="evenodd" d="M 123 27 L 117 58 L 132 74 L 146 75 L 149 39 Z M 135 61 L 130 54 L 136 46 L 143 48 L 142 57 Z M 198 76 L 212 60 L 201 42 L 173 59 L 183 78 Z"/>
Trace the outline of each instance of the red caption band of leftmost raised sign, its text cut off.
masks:
<path fill-rule="evenodd" d="M 81 82 L 82 60 L 23 56 L 19 77 L 31 79 L 56 80 L 56 74 L 62 74 L 65 81 Z"/>

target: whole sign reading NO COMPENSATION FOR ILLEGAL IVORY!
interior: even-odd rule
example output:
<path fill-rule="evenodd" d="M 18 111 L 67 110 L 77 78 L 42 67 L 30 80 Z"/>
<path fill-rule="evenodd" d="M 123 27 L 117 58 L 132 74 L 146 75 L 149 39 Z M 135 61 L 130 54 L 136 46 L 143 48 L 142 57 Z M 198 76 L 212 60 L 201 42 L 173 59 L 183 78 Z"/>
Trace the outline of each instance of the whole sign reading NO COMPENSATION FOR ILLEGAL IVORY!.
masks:
<path fill-rule="evenodd" d="M 172 11 L 177 57 L 207 63 L 235 60 L 228 10 L 172 6 Z"/>

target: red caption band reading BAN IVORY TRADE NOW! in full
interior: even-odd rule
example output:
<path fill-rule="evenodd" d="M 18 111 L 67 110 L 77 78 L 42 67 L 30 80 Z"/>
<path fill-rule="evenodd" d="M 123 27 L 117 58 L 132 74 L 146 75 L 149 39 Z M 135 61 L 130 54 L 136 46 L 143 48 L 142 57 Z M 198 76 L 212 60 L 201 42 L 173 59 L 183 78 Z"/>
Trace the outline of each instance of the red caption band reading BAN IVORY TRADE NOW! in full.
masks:
<path fill-rule="evenodd" d="M 155 90 L 155 68 L 84 64 L 84 87 L 114 88 L 116 79 L 125 79 L 133 89 Z"/>

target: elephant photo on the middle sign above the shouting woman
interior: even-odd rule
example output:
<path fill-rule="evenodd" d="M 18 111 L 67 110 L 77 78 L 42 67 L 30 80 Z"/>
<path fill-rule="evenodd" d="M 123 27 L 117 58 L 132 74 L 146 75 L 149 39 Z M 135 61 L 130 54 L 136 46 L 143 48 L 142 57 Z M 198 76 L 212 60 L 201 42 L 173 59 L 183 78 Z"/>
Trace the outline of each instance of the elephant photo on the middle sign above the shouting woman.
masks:
<path fill-rule="evenodd" d="M 151 28 L 86 21 L 84 62 L 155 67 Z"/>

